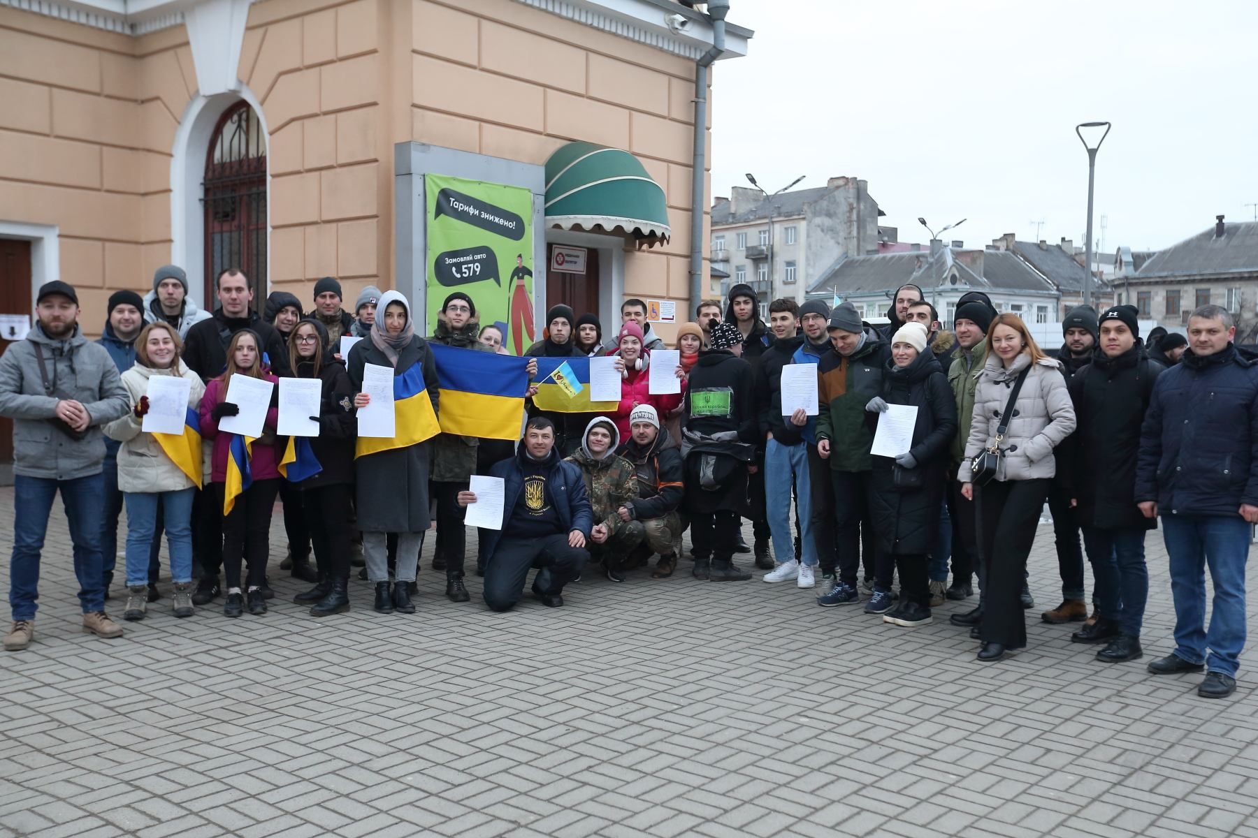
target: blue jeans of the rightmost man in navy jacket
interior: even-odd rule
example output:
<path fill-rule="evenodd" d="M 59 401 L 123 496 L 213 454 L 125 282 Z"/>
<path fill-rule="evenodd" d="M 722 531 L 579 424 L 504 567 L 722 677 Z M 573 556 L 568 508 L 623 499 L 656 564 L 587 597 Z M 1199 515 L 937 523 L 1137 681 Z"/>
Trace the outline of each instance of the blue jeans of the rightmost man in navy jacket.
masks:
<path fill-rule="evenodd" d="M 1162 515 L 1162 540 L 1175 598 L 1175 656 L 1235 677 L 1245 645 L 1249 524 L 1239 515 Z M 1206 565 L 1214 582 L 1209 631 L 1204 628 Z"/>

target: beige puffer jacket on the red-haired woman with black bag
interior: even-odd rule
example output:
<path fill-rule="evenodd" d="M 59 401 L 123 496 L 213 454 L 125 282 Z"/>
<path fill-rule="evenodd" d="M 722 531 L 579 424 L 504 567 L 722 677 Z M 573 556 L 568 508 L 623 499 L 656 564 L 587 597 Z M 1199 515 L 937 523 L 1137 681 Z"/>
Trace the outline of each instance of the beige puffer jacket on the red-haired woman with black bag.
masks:
<path fill-rule="evenodd" d="M 1009 392 L 1028 366 L 1030 372 L 1018 392 L 1014 416 L 1005 431 L 1004 474 L 996 475 L 996 480 L 1039 480 L 1057 474 L 1053 451 L 1074 431 L 1074 406 L 1060 364 L 1054 358 L 1032 364 L 1030 356 L 1023 352 L 1005 369 L 1000 357 L 991 353 L 974 391 L 970 436 L 956 477 L 961 482 L 970 482 L 970 461 L 995 442 Z"/>

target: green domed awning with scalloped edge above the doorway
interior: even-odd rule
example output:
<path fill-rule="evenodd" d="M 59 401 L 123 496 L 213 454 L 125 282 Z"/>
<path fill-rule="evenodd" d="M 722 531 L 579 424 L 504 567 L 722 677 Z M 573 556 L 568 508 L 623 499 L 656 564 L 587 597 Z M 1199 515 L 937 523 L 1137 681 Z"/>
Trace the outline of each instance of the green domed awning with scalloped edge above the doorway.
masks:
<path fill-rule="evenodd" d="M 668 241 L 668 201 L 642 162 L 619 148 L 570 142 L 546 161 L 546 226 L 620 230 Z"/>

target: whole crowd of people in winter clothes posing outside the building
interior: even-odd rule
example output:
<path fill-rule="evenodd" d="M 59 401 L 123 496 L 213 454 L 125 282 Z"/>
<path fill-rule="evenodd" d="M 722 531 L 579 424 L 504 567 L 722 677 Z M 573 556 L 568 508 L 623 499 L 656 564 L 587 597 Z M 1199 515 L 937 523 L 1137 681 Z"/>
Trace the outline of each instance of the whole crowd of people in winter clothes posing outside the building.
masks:
<path fill-rule="evenodd" d="M 916 285 L 891 294 L 888 324 L 876 328 L 850 303 L 832 310 L 819 300 L 772 300 L 765 323 L 755 291 L 737 284 L 677 329 L 681 393 L 658 395 L 648 369 L 665 344 L 643 300 L 626 299 L 621 323 L 608 332 L 596 315 L 560 303 L 523 354 L 614 357 L 621 376 L 614 410 L 535 408 L 542 382 L 533 362 L 518 443 L 439 433 L 362 449 L 356 412 L 371 401 L 366 364 L 392 368 L 395 393 L 426 392 L 439 416 L 429 343 L 507 354 L 507 335 L 482 325 L 463 293 L 445 299 L 434 334 L 423 337 L 398 291 L 366 288 L 348 310 L 340 283 L 323 278 L 312 310 L 277 291 L 264 317 L 240 271 L 218 276 L 216 291 L 219 308 L 200 310 L 184 271 L 162 266 L 143 298 L 109 298 L 102 338 L 92 343 L 74 288 L 52 281 L 39 290 L 36 323 L 0 358 L 0 416 L 14 420 L 16 482 L 6 650 L 34 637 L 40 553 L 58 492 L 83 628 L 113 638 L 123 632 L 104 602 L 123 509 L 128 621 L 145 618 L 161 597 L 164 534 L 175 617 L 220 597 L 228 617 L 267 613 L 277 498 L 288 538 L 281 568 L 313 583 L 294 602 L 317 617 L 350 609 L 350 568 L 359 564 L 375 611 L 414 613 L 419 554 L 434 528 L 447 597 L 470 599 L 464 515 L 477 498 L 469 481 L 492 475 L 503 480 L 506 503 L 501 528 L 479 531 L 476 573 L 493 611 L 520 601 L 532 569 L 532 592 L 548 607 L 564 604 L 565 587 L 590 563 L 613 582 L 638 568 L 671 577 L 689 528 L 698 579 L 750 579 L 735 557 L 751 553 L 767 570 L 764 582 L 819 588 L 816 604 L 863 603 L 893 626 L 927 624 L 932 608 L 977 593 L 950 622 L 980 641 L 979 661 L 1027 643 L 1025 612 L 1034 607 L 1027 559 L 1045 504 L 1062 603 L 1042 619 L 1081 623 L 1069 639 L 1102 645 L 1098 661 L 1141 658 L 1144 545 L 1160 523 L 1175 648 L 1147 668 L 1205 670 L 1204 697 L 1235 688 L 1244 568 L 1258 524 L 1258 353 L 1233 343 L 1232 315 L 1219 307 L 1195 310 L 1186 338 L 1162 332 L 1147 343 L 1135 308 L 1081 307 L 1062 324 L 1062 348 L 1048 354 L 1020 318 L 998 313 L 979 291 L 961 298 L 949 330 Z M 342 335 L 362 338 L 347 357 Z M 782 411 L 784 373 L 798 364 L 815 367 L 815 416 Z M 303 437 L 322 466 L 317 474 L 286 471 L 278 388 L 260 437 L 245 445 L 221 430 L 239 412 L 226 398 L 237 373 L 320 381 L 318 413 L 309 417 L 318 435 Z M 204 446 L 191 465 L 170 435 L 143 430 L 147 388 L 164 376 L 189 381 L 189 422 Z M 905 406 L 916 408 L 908 449 L 873 454 L 883 413 Z M 244 485 L 242 457 L 250 472 Z M 750 548 L 742 519 L 752 523 Z"/>

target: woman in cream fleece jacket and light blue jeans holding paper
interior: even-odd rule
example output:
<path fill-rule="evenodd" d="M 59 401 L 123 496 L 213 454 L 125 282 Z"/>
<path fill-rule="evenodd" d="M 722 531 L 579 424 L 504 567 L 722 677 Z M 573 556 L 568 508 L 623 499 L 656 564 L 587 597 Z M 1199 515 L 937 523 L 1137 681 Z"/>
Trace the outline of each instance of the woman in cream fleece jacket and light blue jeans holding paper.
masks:
<path fill-rule="evenodd" d="M 182 436 L 159 437 L 143 430 L 151 402 L 151 381 L 170 377 L 187 382 L 185 403 L 159 407 L 180 413 L 196 410 L 205 393 L 201 377 L 180 361 L 182 340 L 165 320 L 150 323 L 136 338 L 136 364 L 122 373 L 122 386 L 131 398 L 131 412 L 104 426 L 104 433 L 118 440 L 118 489 L 127 505 L 127 607 L 126 619 L 143 619 L 148 602 L 148 552 L 162 511 L 166 544 L 170 548 L 170 575 L 175 583 L 172 603 L 176 617 L 192 616 L 192 495 L 200 485 L 200 443 L 185 443 Z M 179 388 L 171 388 L 179 389 Z M 153 398 L 157 398 L 153 392 Z M 194 440 L 195 442 L 195 440 Z M 182 446 L 182 447 L 180 447 Z M 175 454 L 176 459 L 171 457 Z M 186 456 L 180 456 L 180 455 Z"/>

